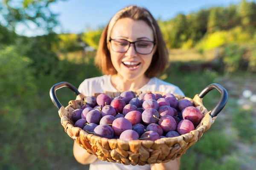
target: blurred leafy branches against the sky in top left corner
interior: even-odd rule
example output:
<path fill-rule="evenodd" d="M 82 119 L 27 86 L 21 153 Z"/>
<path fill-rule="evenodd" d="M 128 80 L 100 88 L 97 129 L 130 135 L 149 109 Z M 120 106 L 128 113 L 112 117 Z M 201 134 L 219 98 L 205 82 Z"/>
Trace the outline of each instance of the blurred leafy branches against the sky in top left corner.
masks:
<path fill-rule="evenodd" d="M 57 26 L 57 14 L 52 13 L 49 4 L 57 0 L 3 0 L 0 4 L 0 15 L 5 20 L 6 27 L 15 31 L 18 23 L 29 27 L 28 23 L 33 22 L 38 28 L 44 28 L 47 33 L 53 32 Z"/>

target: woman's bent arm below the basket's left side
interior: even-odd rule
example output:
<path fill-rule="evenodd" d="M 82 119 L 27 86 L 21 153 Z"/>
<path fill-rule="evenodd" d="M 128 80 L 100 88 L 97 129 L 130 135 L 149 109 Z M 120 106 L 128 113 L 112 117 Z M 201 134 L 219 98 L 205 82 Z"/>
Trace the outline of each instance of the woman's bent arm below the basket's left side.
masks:
<path fill-rule="evenodd" d="M 87 151 L 79 146 L 79 144 L 76 142 L 74 142 L 73 154 L 76 161 L 78 161 L 80 164 L 91 164 L 98 159 L 96 156 L 87 153 Z"/>

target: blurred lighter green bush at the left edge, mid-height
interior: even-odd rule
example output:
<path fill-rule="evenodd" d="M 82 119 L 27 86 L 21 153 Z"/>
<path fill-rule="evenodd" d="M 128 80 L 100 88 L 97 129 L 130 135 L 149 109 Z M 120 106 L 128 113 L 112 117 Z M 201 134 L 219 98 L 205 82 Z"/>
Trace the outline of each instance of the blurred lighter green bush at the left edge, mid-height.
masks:
<path fill-rule="evenodd" d="M 20 56 L 15 46 L 0 49 L 0 109 L 9 111 L 15 105 L 29 105 L 37 93 L 32 60 Z"/>

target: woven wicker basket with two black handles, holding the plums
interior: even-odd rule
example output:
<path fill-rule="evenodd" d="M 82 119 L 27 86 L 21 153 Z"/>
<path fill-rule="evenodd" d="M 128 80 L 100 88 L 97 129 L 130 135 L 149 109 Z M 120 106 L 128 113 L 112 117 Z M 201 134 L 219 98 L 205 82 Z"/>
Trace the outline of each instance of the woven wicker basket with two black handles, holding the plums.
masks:
<path fill-rule="evenodd" d="M 69 105 L 64 108 L 58 101 L 55 91 L 62 87 L 68 87 L 78 95 L 78 100 L 71 100 Z M 217 89 L 221 93 L 221 99 L 218 105 L 212 111 L 207 111 L 202 103 L 203 97 L 212 89 Z M 112 93 L 105 92 L 109 96 L 117 96 L 121 92 Z M 136 92 L 137 94 L 142 93 Z M 160 93 L 160 92 L 157 92 Z M 163 93 L 160 93 L 163 94 Z M 97 96 L 98 94 L 95 94 Z M 203 113 L 203 119 L 195 130 L 190 131 L 184 135 L 172 138 L 162 138 L 156 141 L 149 140 L 132 140 L 123 141 L 120 139 L 106 139 L 93 134 L 89 134 L 79 127 L 74 127 L 71 119 L 71 112 L 75 109 L 81 108 L 84 104 L 84 95 L 70 83 L 61 82 L 53 85 L 50 90 L 50 96 L 54 105 L 58 108 L 58 113 L 61 118 L 61 125 L 64 127 L 65 132 L 74 139 L 81 147 L 87 150 L 88 153 L 94 154 L 102 161 L 117 162 L 125 165 L 145 165 L 155 164 L 161 162 L 168 162 L 183 155 L 186 150 L 198 142 L 204 132 L 206 132 L 217 114 L 224 108 L 227 103 L 227 91 L 218 84 L 208 85 L 200 94 L 196 94 L 193 99 L 176 95 L 178 100 L 188 99 L 192 104 Z"/>

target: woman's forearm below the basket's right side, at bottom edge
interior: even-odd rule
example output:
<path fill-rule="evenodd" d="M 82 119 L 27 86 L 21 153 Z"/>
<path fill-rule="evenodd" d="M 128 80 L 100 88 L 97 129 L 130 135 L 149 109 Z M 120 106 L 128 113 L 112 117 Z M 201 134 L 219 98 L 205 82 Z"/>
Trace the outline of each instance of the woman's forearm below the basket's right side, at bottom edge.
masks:
<path fill-rule="evenodd" d="M 152 164 L 150 165 L 150 167 L 151 167 L 151 170 L 179 170 L 180 157 L 166 163 Z"/>

